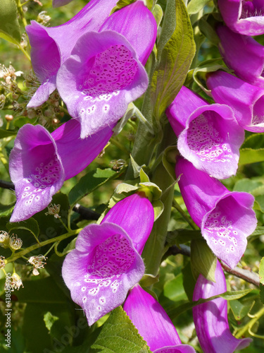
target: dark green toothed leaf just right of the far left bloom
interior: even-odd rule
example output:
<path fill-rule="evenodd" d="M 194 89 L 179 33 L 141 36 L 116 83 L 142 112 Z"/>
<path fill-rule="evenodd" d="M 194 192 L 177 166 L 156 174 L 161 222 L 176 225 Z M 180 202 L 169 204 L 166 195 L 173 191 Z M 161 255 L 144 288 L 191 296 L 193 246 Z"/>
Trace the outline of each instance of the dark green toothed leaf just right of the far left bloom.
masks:
<path fill-rule="evenodd" d="M 73 207 L 75 203 L 80 201 L 84 196 L 87 196 L 92 191 L 99 188 L 99 186 L 106 183 L 111 179 L 115 179 L 120 175 L 120 172 L 115 172 L 111 168 L 93 170 L 92 172 L 87 173 L 78 181 L 78 183 L 70 190 L 69 193 L 69 202 L 70 206 Z"/>

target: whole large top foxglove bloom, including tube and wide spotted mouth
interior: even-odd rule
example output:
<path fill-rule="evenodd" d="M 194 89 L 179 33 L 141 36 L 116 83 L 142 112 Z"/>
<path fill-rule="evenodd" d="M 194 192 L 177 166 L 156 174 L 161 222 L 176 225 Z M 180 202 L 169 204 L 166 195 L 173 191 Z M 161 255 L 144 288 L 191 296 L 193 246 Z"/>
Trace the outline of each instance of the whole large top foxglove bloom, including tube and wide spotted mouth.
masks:
<path fill-rule="evenodd" d="M 81 138 L 115 124 L 127 104 L 148 87 L 146 63 L 156 39 L 156 21 L 142 1 L 113 13 L 99 32 L 77 40 L 58 70 L 56 85 Z"/>

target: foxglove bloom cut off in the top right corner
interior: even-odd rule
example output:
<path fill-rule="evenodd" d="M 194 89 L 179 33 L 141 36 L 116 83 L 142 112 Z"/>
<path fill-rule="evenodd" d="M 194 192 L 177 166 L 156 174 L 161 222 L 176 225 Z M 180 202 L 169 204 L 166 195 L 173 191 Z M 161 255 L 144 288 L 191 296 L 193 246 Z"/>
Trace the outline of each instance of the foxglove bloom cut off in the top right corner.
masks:
<path fill-rule="evenodd" d="M 241 35 L 264 34 L 263 0 L 218 0 L 226 25 Z"/>

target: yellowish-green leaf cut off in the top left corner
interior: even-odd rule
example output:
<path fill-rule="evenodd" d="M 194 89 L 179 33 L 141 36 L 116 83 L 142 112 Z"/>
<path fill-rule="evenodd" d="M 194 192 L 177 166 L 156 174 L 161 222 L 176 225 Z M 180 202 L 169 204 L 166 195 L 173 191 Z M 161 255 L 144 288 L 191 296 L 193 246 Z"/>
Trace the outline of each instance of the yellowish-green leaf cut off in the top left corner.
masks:
<path fill-rule="evenodd" d="M 14 44 L 20 43 L 18 8 L 15 0 L 0 1 L 0 37 Z"/>

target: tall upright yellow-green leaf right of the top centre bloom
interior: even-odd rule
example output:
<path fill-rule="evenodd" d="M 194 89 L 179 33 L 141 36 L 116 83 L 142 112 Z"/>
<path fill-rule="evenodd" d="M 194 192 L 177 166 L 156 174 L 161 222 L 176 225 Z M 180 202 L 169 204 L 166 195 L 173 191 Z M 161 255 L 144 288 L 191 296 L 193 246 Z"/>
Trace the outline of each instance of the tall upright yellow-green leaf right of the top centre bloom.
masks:
<path fill-rule="evenodd" d="M 157 120 L 180 91 L 195 54 L 194 32 L 184 1 L 168 0 L 163 23 L 151 81 L 151 104 Z"/>

